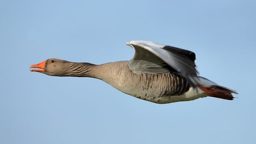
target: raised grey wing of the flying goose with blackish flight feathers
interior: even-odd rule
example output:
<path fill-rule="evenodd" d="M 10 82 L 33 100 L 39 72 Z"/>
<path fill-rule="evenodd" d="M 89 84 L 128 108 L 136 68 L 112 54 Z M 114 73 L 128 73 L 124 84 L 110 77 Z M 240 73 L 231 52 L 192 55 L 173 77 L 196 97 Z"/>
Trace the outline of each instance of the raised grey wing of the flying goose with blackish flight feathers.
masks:
<path fill-rule="evenodd" d="M 195 82 L 190 78 L 198 74 L 194 52 L 142 40 L 133 40 L 126 44 L 135 50 L 134 57 L 128 64 L 133 72 L 163 74 L 170 73 L 171 68 Z"/>

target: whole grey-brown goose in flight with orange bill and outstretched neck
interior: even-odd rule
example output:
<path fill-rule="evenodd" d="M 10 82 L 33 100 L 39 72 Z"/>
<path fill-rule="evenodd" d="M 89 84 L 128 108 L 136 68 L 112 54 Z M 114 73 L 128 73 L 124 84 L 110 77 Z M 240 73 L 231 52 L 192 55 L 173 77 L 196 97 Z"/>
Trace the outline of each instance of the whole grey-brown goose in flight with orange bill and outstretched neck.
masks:
<path fill-rule="evenodd" d="M 196 54 L 189 50 L 150 41 L 126 43 L 135 50 L 129 61 L 91 64 L 56 58 L 31 65 L 30 71 L 49 76 L 91 77 L 136 98 L 168 104 L 207 96 L 233 100 L 235 90 L 198 76 Z"/>

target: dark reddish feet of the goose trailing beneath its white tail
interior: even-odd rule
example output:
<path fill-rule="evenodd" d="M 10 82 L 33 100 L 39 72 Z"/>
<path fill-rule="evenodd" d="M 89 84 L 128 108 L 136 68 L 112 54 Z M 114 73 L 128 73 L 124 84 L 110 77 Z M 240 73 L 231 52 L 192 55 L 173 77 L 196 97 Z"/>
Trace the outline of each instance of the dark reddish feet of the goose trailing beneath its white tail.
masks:
<path fill-rule="evenodd" d="M 233 100 L 234 97 L 232 96 L 232 92 L 224 87 L 221 86 L 210 86 L 210 87 L 204 87 L 199 86 L 199 88 L 204 91 L 206 94 L 210 94 L 210 96 L 214 98 L 222 98 L 225 100 Z M 233 92 L 234 93 L 234 92 Z"/>

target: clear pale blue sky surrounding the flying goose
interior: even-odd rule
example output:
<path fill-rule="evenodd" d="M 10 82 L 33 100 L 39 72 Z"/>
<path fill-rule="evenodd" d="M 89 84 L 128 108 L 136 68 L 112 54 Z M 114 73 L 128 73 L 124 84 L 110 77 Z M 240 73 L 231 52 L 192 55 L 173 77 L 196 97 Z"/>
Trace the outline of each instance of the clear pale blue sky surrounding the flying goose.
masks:
<path fill-rule="evenodd" d="M 0 143 L 254 144 L 255 14 L 255 0 L 0 1 Z M 238 98 L 161 105 L 29 71 L 48 58 L 130 60 L 129 40 L 195 52 L 200 76 Z"/>

